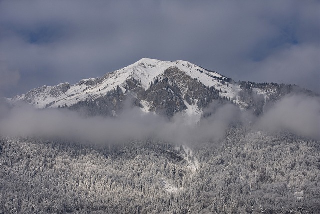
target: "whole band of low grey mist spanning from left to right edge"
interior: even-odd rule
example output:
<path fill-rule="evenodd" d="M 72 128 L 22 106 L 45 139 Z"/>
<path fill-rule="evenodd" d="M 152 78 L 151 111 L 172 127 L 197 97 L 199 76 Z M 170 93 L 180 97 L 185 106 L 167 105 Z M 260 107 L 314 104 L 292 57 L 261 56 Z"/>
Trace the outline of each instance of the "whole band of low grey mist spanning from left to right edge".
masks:
<path fill-rule="evenodd" d="M 210 111 L 214 109 L 214 111 Z M 85 117 L 68 109 L 35 109 L 22 105 L 0 105 L 0 134 L 12 137 L 40 137 L 91 143 L 118 143 L 157 139 L 172 143 L 210 142 L 223 138 L 233 123 L 248 124 L 260 130 L 290 131 L 320 139 L 320 100 L 291 95 L 276 102 L 256 118 L 232 104 L 212 103 L 206 118 L 176 114 L 168 120 L 138 108 L 128 108 L 117 117 Z"/>

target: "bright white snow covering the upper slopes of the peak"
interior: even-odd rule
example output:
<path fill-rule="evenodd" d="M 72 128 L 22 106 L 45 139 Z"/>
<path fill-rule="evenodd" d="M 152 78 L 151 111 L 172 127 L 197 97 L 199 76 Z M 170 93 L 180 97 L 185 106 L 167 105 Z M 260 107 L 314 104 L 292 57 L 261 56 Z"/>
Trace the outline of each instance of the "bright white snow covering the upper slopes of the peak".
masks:
<path fill-rule="evenodd" d="M 178 68 L 184 72 L 187 76 L 194 80 L 203 83 L 208 87 L 215 87 L 219 90 L 219 96 L 234 100 L 235 103 L 243 106 L 243 103 L 239 101 L 240 86 L 237 84 L 229 83 L 229 78 L 224 77 L 214 71 L 208 71 L 189 63 L 187 61 L 160 61 L 149 58 L 142 58 L 141 60 L 116 70 L 111 73 L 106 73 L 102 78 L 89 78 L 82 79 L 79 83 L 70 85 L 69 83 L 61 83 L 56 86 L 42 86 L 36 89 L 32 89 L 25 95 L 19 95 L 11 98 L 11 102 L 25 101 L 37 108 L 45 107 L 62 107 L 70 106 L 78 103 L 79 101 L 92 100 L 99 97 L 106 96 L 107 92 L 120 87 L 123 92 L 126 93 L 126 81 L 134 79 L 138 81 L 145 91 L 150 88 L 151 82 L 154 82 L 156 78 L 163 76 L 165 70 L 168 68 Z M 179 77 L 177 77 L 179 78 Z M 227 81 L 227 82 L 225 82 Z M 183 83 L 182 83 L 183 84 Z M 179 85 L 180 88 L 187 88 L 187 85 Z M 183 91 L 183 90 L 181 90 Z M 185 91 L 185 90 L 184 90 Z M 265 93 L 261 90 L 256 90 L 256 93 Z M 150 106 L 146 100 L 140 100 L 143 106 Z M 196 104 L 186 103 L 185 112 L 189 115 L 201 115 L 201 109 Z M 146 108 L 143 111 L 148 111 Z"/>

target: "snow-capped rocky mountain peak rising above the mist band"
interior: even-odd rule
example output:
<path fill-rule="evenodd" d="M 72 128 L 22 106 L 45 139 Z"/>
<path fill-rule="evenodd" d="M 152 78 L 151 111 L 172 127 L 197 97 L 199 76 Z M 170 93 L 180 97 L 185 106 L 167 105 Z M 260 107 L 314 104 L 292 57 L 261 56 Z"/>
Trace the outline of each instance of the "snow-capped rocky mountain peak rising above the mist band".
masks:
<path fill-rule="evenodd" d="M 143 58 L 102 78 L 82 79 L 70 85 L 42 86 L 11 98 L 38 108 L 86 109 L 90 115 L 116 115 L 125 105 L 172 117 L 178 112 L 201 116 L 213 100 L 235 103 L 242 109 L 263 111 L 270 100 L 295 86 L 235 82 L 187 61 Z"/>

